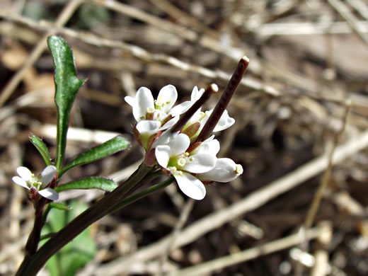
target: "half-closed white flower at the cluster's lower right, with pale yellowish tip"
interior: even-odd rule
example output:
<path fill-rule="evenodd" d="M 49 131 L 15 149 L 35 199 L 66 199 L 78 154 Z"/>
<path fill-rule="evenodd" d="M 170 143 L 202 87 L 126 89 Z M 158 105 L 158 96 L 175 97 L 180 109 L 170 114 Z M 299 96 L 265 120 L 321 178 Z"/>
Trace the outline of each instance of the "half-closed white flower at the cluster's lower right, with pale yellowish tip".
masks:
<path fill-rule="evenodd" d="M 203 181 L 229 182 L 243 173 L 241 165 L 237 165 L 229 158 L 217 159 L 216 166 L 207 173 L 198 175 Z"/>

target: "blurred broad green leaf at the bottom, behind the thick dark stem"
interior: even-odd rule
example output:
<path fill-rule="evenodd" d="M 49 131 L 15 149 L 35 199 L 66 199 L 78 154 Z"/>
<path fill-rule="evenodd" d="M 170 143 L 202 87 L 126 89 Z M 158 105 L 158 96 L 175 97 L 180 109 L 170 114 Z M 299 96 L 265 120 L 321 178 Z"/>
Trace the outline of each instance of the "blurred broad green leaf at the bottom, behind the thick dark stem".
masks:
<path fill-rule="evenodd" d="M 68 212 L 52 209 L 47 217 L 47 224 L 42 229 L 42 236 L 56 233 L 87 208 L 79 202 L 71 202 L 71 207 Z M 47 261 L 47 270 L 51 276 L 74 276 L 95 254 L 96 243 L 91 238 L 91 229 L 88 227 Z"/>

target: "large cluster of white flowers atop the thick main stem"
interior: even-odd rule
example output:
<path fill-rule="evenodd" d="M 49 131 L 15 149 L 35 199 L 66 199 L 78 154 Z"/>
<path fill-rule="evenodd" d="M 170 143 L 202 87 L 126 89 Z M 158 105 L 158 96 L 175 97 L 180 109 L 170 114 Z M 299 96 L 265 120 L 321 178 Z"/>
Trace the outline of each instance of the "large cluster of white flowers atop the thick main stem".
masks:
<path fill-rule="evenodd" d="M 218 90 L 214 84 L 210 87 L 212 92 Z M 139 88 L 134 98 L 125 97 L 137 121 L 134 136 L 146 150 L 146 164 L 161 166 L 164 173 L 176 178 L 180 190 L 195 200 L 205 197 L 204 184 L 229 182 L 243 173 L 241 165 L 231 159 L 217 158 L 220 146 L 214 135 L 205 137 L 204 141 L 198 140 L 213 112 L 195 107 L 202 105 L 201 99 L 207 92 L 195 86 L 190 100 L 176 106 L 178 93 L 172 85 L 161 88 L 156 100 L 145 87 Z M 226 130 L 234 122 L 224 110 L 213 132 Z"/>

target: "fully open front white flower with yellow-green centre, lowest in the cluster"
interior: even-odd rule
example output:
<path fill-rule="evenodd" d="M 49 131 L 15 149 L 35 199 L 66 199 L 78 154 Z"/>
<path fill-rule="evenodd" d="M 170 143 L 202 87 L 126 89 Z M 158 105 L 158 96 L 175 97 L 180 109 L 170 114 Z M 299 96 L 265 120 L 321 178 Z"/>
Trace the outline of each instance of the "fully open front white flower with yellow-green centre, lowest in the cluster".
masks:
<path fill-rule="evenodd" d="M 208 140 L 208 141 L 207 141 Z M 216 165 L 219 149 L 217 140 L 207 139 L 204 148 L 187 152 L 190 139 L 180 133 L 169 139 L 166 145 L 156 146 L 157 163 L 170 171 L 182 192 L 195 200 L 202 200 L 206 195 L 205 185 L 191 173 L 206 173 Z M 205 150 L 207 149 L 207 151 Z"/>

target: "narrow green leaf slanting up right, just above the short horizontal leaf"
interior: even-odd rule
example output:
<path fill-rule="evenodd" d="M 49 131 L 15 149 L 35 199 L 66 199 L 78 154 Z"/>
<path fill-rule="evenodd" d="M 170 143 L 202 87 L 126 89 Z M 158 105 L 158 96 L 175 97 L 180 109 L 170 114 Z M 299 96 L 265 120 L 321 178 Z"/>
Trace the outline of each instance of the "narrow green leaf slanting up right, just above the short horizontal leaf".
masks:
<path fill-rule="evenodd" d="M 88 151 L 76 157 L 76 159 L 74 159 L 69 164 L 67 164 L 67 166 L 64 166 L 62 168 L 62 170 L 59 172 L 59 176 L 62 176 L 64 172 L 75 166 L 81 166 L 86 163 L 91 163 L 98 159 L 110 156 L 111 154 L 115 154 L 117 151 L 127 149 L 129 144 L 130 143 L 127 141 L 127 139 L 122 136 L 114 137 L 113 139 L 110 139 L 107 142 L 100 144 L 99 146 L 89 149 Z"/>

